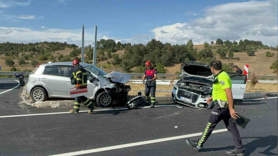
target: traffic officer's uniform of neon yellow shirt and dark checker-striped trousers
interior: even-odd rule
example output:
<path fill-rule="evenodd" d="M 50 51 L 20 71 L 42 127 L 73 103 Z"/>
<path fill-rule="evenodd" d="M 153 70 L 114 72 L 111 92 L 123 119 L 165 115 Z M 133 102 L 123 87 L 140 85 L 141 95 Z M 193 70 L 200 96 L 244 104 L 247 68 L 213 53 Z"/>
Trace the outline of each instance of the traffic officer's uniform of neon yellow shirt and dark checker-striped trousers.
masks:
<path fill-rule="evenodd" d="M 221 120 L 224 121 L 226 128 L 232 134 L 234 139 L 235 148 L 240 151 L 244 152 L 244 148 L 242 147 L 241 138 L 237 129 L 237 126 L 229 121 L 231 118 L 230 110 L 228 107 L 228 100 L 226 97 L 225 88 L 232 89 L 232 82 L 230 79 L 229 74 L 224 71 L 219 72 L 215 76 L 216 83 L 213 84 L 213 101 L 215 100 L 222 100 L 227 106 L 225 108 L 217 108 L 214 106 L 210 116 L 208 117 L 208 122 L 205 124 L 204 132 L 202 133 L 201 138 L 197 141 L 199 147 L 203 147 L 203 144 L 208 139 L 210 134 L 213 132 L 213 129 L 217 125 L 218 122 Z"/>

